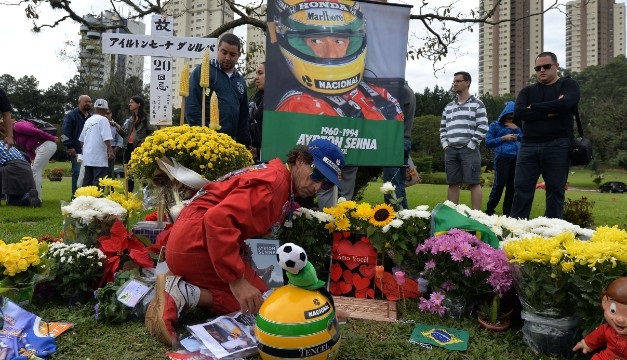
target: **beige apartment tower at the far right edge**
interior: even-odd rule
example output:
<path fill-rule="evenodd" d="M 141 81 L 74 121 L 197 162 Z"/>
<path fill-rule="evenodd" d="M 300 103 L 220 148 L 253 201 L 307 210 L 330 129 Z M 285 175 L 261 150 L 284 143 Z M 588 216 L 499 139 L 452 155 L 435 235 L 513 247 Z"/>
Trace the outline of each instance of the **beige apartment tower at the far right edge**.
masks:
<path fill-rule="evenodd" d="M 566 68 L 580 72 L 625 55 L 625 4 L 614 0 L 566 3 Z"/>

